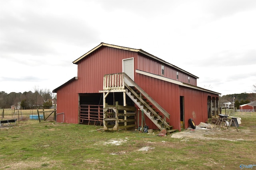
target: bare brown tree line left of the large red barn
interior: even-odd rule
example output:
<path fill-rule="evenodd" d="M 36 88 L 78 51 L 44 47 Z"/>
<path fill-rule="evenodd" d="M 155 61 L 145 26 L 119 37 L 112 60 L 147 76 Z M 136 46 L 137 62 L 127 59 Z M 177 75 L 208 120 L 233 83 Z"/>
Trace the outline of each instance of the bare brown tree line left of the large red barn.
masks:
<path fill-rule="evenodd" d="M 30 109 L 36 107 L 50 108 L 52 100 L 56 96 L 49 89 L 34 88 L 34 92 L 0 92 L 0 108 L 10 108 L 11 106 L 21 107 L 21 109 Z"/>

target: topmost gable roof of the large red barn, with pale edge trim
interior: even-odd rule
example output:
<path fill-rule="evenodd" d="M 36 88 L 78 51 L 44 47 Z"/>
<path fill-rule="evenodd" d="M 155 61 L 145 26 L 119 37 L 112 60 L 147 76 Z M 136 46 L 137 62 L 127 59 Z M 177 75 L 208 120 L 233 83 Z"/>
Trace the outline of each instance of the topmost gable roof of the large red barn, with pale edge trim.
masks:
<path fill-rule="evenodd" d="M 188 74 L 188 75 L 190 75 L 194 78 L 199 78 L 199 77 L 197 77 L 197 76 L 195 76 L 195 75 L 193 75 L 193 74 L 191 74 L 191 73 L 189 73 L 189 72 L 187 72 L 187 71 L 185 71 L 185 70 L 183 70 L 183 69 L 181 69 L 181 68 L 179 68 L 179 67 L 177 67 L 173 64 L 170 64 L 170 63 L 168 63 L 168 62 L 166 62 L 166 61 L 164 61 L 164 60 L 162 60 L 162 59 L 160 59 L 160 58 L 158 58 L 158 57 L 156 57 L 156 56 L 154 56 L 150 53 L 147 53 L 146 51 L 143 51 L 142 49 L 132 49 L 132 48 L 128 48 L 128 47 L 121 47 L 121 46 L 118 46 L 118 45 L 111 45 L 111 44 L 106 44 L 106 43 L 100 43 L 100 45 L 98 45 L 97 47 L 94 47 L 92 50 L 88 51 L 87 53 L 85 53 L 84 55 L 82 55 L 81 57 L 79 57 L 78 59 L 73 61 L 72 63 L 73 64 L 78 64 L 82 59 L 86 58 L 88 55 L 90 55 L 91 53 L 93 53 L 94 51 L 98 50 L 100 47 L 103 47 L 103 46 L 141 53 L 141 54 L 146 55 L 147 57 L 149 57 L 151 59 L 155 59 L 155 60 L 159 61 L 160 63 L 171 66 L 172 68 L 175 68 L 175 69 L 177 69 L 181 72 L 184 72 L 184 73 L 186 73 L 186 74 Z"/>

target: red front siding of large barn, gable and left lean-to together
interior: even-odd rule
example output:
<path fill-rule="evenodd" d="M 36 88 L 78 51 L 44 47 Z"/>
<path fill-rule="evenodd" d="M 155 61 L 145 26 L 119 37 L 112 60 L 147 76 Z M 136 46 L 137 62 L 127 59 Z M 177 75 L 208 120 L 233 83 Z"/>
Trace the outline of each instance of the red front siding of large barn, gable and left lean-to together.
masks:
<path fill-rule="evenodd" d="M 78 80 L 66 84 L 57 91 L 57 113 L 64 112 L 64 122 L 79 123 L 79 93 L 98 93 L 99 90 L 103 90 L 104 75 L 122 72 L 122 59 L 132 57 L 136 63 L 136 52 L 102 47 L 80 61 Z M 62 122 L 62 119 L 57 121 Z"/>

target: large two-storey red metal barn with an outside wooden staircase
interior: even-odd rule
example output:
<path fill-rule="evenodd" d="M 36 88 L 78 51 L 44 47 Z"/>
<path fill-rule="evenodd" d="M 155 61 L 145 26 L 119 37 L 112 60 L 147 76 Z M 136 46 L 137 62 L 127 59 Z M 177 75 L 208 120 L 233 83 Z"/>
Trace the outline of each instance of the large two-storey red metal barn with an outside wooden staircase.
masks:
<path fill-rule="evenodd" d="M 199 124 L 218 114 L 220 93 L 198 87 L 197 76 L 142 49 L 100 43 L 73 63 L 78 76 L 53 90 L 63 113 L 57 122 L 120 129 L 145 121 L 150 129 L 180 130 L 190 118 Z"/>

